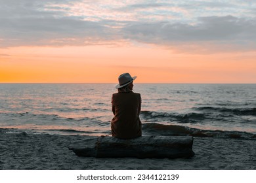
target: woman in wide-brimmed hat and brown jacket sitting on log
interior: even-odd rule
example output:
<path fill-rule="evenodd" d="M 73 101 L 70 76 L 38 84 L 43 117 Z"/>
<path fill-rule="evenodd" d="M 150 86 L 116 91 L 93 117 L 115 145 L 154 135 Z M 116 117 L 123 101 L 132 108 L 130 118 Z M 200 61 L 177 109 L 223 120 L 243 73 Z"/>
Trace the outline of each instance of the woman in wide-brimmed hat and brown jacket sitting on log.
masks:
<path fill-rule="evenodd" d="M 139 118 L 141 108 L 140 93 L 133 93 L 133 80 L 129 73 L 119 76 L 116 88 L 118 93 L 112 95 L 112 111 L 114 118 L 111 121 L 112 136 L 119 139 L 133 139 L 142 134 Z"/>

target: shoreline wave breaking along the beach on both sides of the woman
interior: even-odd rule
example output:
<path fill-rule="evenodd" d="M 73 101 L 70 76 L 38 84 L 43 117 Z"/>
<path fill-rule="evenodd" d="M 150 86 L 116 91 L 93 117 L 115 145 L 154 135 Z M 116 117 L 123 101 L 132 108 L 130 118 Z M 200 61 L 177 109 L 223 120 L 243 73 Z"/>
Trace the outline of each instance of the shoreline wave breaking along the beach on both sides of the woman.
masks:
<path fill-rule="evenodd" d="M 86 129 L 86 128 L 85 128 Z M 59 134 L 59 135 L 111 135 L 108 131 L 86 131 L 77 129 L 16 129 L 16 128 L 0 128 L 0 133 L 15 134 Z M 155 136 L 192 136 L 192 137 L 214 137 L 224 139 L 249 139 L 256 140 L 256 134 L 243 131 L 221 131 L 221 130 L 205 130 L 192 128 L 182 125 L 164 125 L 158 123 L 142 124 L 142 135 Z"/>

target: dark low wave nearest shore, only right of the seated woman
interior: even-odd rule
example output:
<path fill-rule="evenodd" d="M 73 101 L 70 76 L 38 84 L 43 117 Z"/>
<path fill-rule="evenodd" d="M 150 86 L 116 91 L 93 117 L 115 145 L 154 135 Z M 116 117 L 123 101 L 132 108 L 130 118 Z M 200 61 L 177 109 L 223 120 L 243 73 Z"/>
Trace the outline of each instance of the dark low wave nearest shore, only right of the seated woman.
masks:
<path fill-rule="evenodd" d="M 163 125 L 158 123 L 146 123 L 142 125 L 142 131 L 146 135 L 173 135 L 193 137 L 221 137 L 238 139 L 256 139 L 253 133 L 242 131 L 221 131 L 221 130 L 203 130 L 182 125 Z"/>

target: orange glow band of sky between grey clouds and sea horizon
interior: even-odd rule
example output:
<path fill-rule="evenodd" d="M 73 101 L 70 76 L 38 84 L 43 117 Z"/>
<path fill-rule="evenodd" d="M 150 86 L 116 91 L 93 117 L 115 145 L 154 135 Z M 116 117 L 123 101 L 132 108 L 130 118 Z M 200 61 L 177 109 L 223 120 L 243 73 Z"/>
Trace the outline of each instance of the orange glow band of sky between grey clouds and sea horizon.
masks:
<path fill-rule="evenodd" d="M 255 53 L 174 54 L 154 46 L 1 49 L 1 83 L 256 83 Z"/>

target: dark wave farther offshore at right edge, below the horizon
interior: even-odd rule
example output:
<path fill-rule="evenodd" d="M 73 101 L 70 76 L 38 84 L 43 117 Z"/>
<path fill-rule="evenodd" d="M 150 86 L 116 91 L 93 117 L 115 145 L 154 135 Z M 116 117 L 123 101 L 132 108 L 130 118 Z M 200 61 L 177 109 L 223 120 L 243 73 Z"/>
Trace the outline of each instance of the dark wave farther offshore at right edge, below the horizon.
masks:
<path fill-rule="evenodd" d="M 230 113 L 237 116 L 256 116 L 256 108 L 226 108 L 226 107 L 196 107 L 194 108 L 200 111 L 207 112 L 224 112 Z"/>

